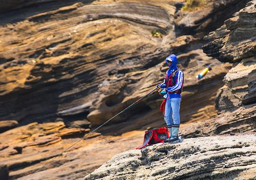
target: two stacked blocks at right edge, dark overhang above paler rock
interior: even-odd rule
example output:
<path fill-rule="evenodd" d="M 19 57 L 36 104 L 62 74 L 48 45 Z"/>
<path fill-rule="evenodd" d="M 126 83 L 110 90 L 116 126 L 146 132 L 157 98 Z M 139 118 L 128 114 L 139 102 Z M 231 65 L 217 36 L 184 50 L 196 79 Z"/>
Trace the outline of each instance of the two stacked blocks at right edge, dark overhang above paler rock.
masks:
<path fill-rule="evenodd" d="M 205 38 L 209 43 L 203 49 L 208 56 L 234 63 L 225 75 L 225 86 L 216 99 L 220 111 L 256 103 L 255 5 L 256 1 L 251 1 L 233 18 L 226 20 L 220 29 Z"/>

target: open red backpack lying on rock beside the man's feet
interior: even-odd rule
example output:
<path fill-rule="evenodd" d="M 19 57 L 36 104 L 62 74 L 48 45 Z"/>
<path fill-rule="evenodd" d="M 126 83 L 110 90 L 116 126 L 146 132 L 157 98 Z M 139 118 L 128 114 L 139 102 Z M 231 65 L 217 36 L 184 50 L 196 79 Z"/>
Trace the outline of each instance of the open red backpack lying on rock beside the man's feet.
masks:
<path fill-rule="evenodd" d="M 145 131 L 144 142 L 140 147 L 137 147 L 136 149 L 142 149 L 147 144 L 152 145 L 156 143 L 163 143 L 164 140 L 167 139 L 168 137 L 169 130 L 168 128 L 165 127 Z"/>

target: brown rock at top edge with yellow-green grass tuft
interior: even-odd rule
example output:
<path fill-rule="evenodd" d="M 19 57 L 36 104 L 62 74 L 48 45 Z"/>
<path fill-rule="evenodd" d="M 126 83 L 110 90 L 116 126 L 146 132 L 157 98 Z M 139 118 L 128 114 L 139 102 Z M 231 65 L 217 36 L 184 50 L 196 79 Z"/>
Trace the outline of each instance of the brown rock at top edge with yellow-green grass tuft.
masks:
<path fill-rule="evenodd" d="M 205 8 L 196 11 L 179 11 L 176 15 L 177 32 L 204 35 L 223 25 L 224 20 L 245 7 L 248 0 L 207 0 Z M 221 18 L 220 18 L 221 17 Z"/>

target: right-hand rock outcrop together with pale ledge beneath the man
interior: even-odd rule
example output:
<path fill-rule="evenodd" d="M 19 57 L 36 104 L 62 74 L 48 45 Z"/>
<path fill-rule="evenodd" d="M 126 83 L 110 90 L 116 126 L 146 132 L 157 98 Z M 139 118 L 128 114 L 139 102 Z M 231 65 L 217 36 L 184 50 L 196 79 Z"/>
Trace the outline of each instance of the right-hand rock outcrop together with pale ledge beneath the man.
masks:
<path fill-rule="evenodd" d="M 196 138 L 116 155 L 85 180 L 256 178 L 255 7 L 256 1 L 249 2 L 205 37 L 208 56 L 234 63 L 215 99 L 219 115 L 181 126 L 186 137 Z"/>

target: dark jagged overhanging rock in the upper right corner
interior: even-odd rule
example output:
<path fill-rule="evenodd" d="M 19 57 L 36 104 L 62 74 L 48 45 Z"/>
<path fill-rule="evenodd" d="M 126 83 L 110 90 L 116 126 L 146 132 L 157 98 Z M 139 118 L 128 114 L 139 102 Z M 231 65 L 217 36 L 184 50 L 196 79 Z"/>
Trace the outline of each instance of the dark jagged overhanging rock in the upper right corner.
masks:
<path fill-rule="evenodd" d="M 255 1 L 235 13 L 224 25 L 205 39 L 210 42 L 203 49 L 208 56 L 222 62 L 238 62 L 255 55 Z"/>

